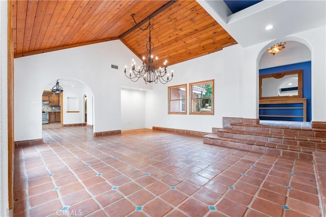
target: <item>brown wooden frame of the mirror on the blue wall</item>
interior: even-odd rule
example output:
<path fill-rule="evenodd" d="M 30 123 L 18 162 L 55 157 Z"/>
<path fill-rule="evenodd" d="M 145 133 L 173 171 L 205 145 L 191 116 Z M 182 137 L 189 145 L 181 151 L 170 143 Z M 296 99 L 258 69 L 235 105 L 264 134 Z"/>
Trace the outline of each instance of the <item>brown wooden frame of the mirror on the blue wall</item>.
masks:
<path fill-rule="evenodd" d="M 276 97 L 261 97 L 262 95 L 262 79 L 270 78 L 270 77 L 284 77 L 285 75 L 297 74 L 297 96 L 276 96 Z M 259 100 L 271 100 L 271 99 L 293 99 L 293 98 L 302 98 L 302 87 L 303 87 L 303 70 L 295 70 L 289 72 L 279 72 L 268 75 L 260 75 L 259 76 Z"/>

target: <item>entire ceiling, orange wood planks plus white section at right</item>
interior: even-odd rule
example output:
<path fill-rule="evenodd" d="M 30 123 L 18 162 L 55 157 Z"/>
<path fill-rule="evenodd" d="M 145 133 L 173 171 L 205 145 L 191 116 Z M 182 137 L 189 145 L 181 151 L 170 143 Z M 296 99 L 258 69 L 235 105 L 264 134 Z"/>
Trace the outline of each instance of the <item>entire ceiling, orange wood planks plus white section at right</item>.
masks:
<path fill-rule="evenodd" d="M 120 39 L 146 55 L 151 17 L 153 54 L 169 65 L 222 50 L 281 40 L 325 25 L 326 1 L 26 1 L 12 0 L 14 56 Z M 265 30 L 267 24 L 274 25 Z"/>

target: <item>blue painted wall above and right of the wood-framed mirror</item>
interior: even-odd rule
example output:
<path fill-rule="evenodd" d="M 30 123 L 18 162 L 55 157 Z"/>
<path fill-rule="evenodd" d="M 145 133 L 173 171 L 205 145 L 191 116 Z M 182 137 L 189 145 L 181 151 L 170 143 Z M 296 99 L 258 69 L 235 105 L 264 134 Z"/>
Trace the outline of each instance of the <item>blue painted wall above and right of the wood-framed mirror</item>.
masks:
<path fill-rule="evenodd" d="M 259 70 L 259 75 L 303 70 L 303 98 L 307 98 L 307 121 L 311 121 L 311 61 Z"/>

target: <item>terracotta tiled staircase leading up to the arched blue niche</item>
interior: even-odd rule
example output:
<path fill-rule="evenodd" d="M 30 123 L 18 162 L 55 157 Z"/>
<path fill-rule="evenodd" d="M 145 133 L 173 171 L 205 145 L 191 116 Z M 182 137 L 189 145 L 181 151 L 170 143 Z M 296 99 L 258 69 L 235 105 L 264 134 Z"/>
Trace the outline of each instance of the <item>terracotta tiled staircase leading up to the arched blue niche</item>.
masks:
<path fill-rule="evenodd" d="M 326 129 L 276 127 L 234 122 L 213 128 L 203 137 L 205 144 L 313 160 L 312 153 L 326 151 Z"/>

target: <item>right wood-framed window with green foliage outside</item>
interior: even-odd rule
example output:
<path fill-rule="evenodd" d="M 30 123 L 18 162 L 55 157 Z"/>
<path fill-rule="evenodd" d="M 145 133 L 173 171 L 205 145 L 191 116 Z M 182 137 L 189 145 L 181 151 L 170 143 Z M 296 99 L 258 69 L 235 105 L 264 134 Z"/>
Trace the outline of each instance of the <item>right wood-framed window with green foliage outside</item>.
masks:
<path fill-rule="evenodd" d="M 214 114 L 214 80 L 189 84 L 190 114 Z"/>

